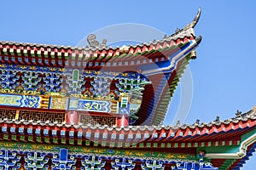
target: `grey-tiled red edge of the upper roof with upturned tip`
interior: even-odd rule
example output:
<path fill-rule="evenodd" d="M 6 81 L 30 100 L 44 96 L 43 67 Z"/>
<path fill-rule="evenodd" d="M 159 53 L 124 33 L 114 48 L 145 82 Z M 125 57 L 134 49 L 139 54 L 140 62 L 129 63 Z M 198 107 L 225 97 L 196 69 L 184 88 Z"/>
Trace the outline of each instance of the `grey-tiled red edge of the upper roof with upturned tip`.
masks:
<path fill-rule="evenodd" d="M 50 45 L 50 44 L 38 44 L 38 43 L 27 43 L 27 42 L 8 42 L 8 41 L 0 41 L 0 49 L 1 48 L 13 48 L 15 50 L 17 49 L 24 49 L 26 53 L 31 51 L 31 53 L 35 53 L 35 51 L 48 51 L 51 52 L 52 54 L 44 54 L 44 55 L 62 55 L 67 57 L 68 54 L 70 53 L 81 53 L 82 54 L 98 54 L 98 53 L 103 53 L 103 54 L 108 54 L 110 51 L 111 54 L 115 54 L 116 52 L 118 53 L 127 53 L 128 54 L 136 54 L 136 53 L 143 53 L 144 51 L 150 51 L 151 49 L 161 49 L 161 48 L 166 48 L 166 47 L 171 47 L 172 45 L 177 45 L 180 42 L 187 41 L 184 39 L 185 37 L 195 37 L 195 32 L 194 32 L 194 27 L 197 24 L 199 18 L 201 15 L 201 8 L 198 11 L 198 14 L 196 14 L 195 19 L 190 22 L 187 26 L 183 27 L 181 30 L 177 30 L 174 34 L 171 36 L 165 36 L 163 39 L 160 39 L 158 41 L 154 40 L 152 42 L 143 42 L 141 44 L 136 44 L 136 45 L 130 45 L 130 46 L 123 46 L 123 47 L 106 47 L 106 48 L 95 48 L 95 47 L 84 47 L 84 48 L 79 48 L 79 47 L 72 47 L 72 46 L 60 46 L 60 45 Z M 180 40 L 180 41 L 177 41 Z M 201 42 L 201 37 L 198 37 L 196 39 L 197 43 Z M 167 42 L 167 43 L 166 43 Z M 169 43 L 172 42 L 172 43 Z M 50 51 L 49 51 L 50 48 Z M 6 49 L 5 49 L 6 50 Z M 0 50 L 1 52 L 1 50 Z M 7 51 L 3 51 L 7 52 Z M 9 53 L 13 53 L 14 51 L 11 50 Z M 18 53 L 18 52 L 16 52 Z M 53 54 L 56 53 L 56 54 Z M 61 54 L 57 54 L 61 53 Z M 108 56 L 108 55 L 107 55 Z"/>

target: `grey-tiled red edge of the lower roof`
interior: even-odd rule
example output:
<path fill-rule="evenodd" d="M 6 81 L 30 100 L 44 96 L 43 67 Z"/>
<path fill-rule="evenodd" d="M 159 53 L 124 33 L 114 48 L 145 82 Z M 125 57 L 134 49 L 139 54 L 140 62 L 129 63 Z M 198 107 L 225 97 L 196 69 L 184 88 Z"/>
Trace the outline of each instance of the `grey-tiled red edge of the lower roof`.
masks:
<path fill-rule="evenodd" d="M 49 129 L 58 129 L 61 131 L 63 127 L 67 129 L 76 129 L 76 131 L 88 131 L 88 130 L 100 130 L 100 132 L 116 132 L 116 133 L 149 133 L 153 135 L 153 133 L 158 133 L 156 138 L 160 138 L 161 133 L 166 132 L 165 137 L 161 137 L 161 140 L 168 141 L 169 139 L 179 139 L 182 137 L 184 139 L 191 138 L 193 140 L 194 137 L 203 136 L 207 134 L 209 135 L 216 135 L 218 133 L 234 133 L 236 130 L 241 129 L 248 129 L 256 127 L 256 106 L 253 107 L 252 110 L 247 111 L 246 113 L 239 114 L 233 118 L 220 121 L 214 120 L 209 123 L 198 123 L 195 122 L 194 124 L 183 124 L 183 125 L 160 125 L 160 126 L 127 126 L 127 127 L 108 127 L 107 125 L 84 125 L 79 123 L 75 125 L 73 123 L 67 124 L 66 122 L 58 123 L 58 122 L 33 122 L 33 121 L 26 121 L 26 120 L 9 120 L 7 118 L 0 119 L 0 124 L 5 124 L 8 127 L 16 126 L 16 127 L 32 127 L 32 128 L 43 128 L 43 127 L 50 127 Z M 84 129 L 84 130 L 83 130 Z M 3 129 L 2 129 L 3 131 Z M 5 132 L 8 133 L 8 132 Z M 167 135 L 168 134 L 168 135 Z M 217 137 L 218 135 L 216 135 Z M 222 135 L 223 136 L 223 135 Z M 149 137 L 148 137 L 149 138 Z M 156 139 L 155 138 L 155 139 Z M 218 138 L 218 137 L 217 137 Z M 203 138 L 201 138 L 203 139 Z"/>

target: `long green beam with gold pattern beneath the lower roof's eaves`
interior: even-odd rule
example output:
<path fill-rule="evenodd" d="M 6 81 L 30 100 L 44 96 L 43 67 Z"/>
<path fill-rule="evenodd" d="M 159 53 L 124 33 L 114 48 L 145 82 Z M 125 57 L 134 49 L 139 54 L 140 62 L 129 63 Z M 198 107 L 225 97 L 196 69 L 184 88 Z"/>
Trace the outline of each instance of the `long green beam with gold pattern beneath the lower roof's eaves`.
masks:
<path fill-rule="evenodd" d="M 106 141 L 102 141 L 106 143 Z M 149 143 L 150 144 L 150 143 Z M 126 143 L 125 145 L 130 146 L 130 143 Z M 151 151 L 151 150 L 137 150 L 136 148 L 129 149 L 121 149 L 121 148 L 101 148 L 101 147 L 84 147 L 77 145 L 65 145 L 65 144 L 35 144 L 35 143 L 25 143 L 25 142 L 15 142 L 15 141 L 0 141 L 0 149 L 1 148 L 9 148 L 13 150 L 38 150 L 44 152 L 52 152 L 58 153 L 58 150 L 55 148 L 67 148 L 69 153 L 77 153 L 77 154 L 96 154 L 96 155 L 112 155 L 112 156 L 138 156 L 138 157 L 158 157 L 162 159 L 185 159 L 185 160 L 198 160 L 197 157 L 193 154 L 179 154 L 179 153 L 170 153 L 163 151 Z M 171 145 L 170 145 L 171 147 Z"/>

